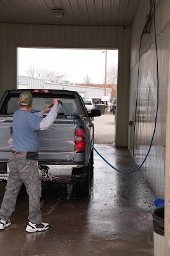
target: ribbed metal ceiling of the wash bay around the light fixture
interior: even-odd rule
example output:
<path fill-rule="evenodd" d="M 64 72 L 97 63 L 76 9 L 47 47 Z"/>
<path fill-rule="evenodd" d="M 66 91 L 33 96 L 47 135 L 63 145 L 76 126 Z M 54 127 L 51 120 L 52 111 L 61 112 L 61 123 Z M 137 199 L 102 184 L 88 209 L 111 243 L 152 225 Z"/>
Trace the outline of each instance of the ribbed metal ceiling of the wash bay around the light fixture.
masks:
<path fill-rule="evenodd" d="M 0 0 L 1 23 L 131 26 L 141 0 Z M 57 18 L 52 9 L 64 10 Z"/>

